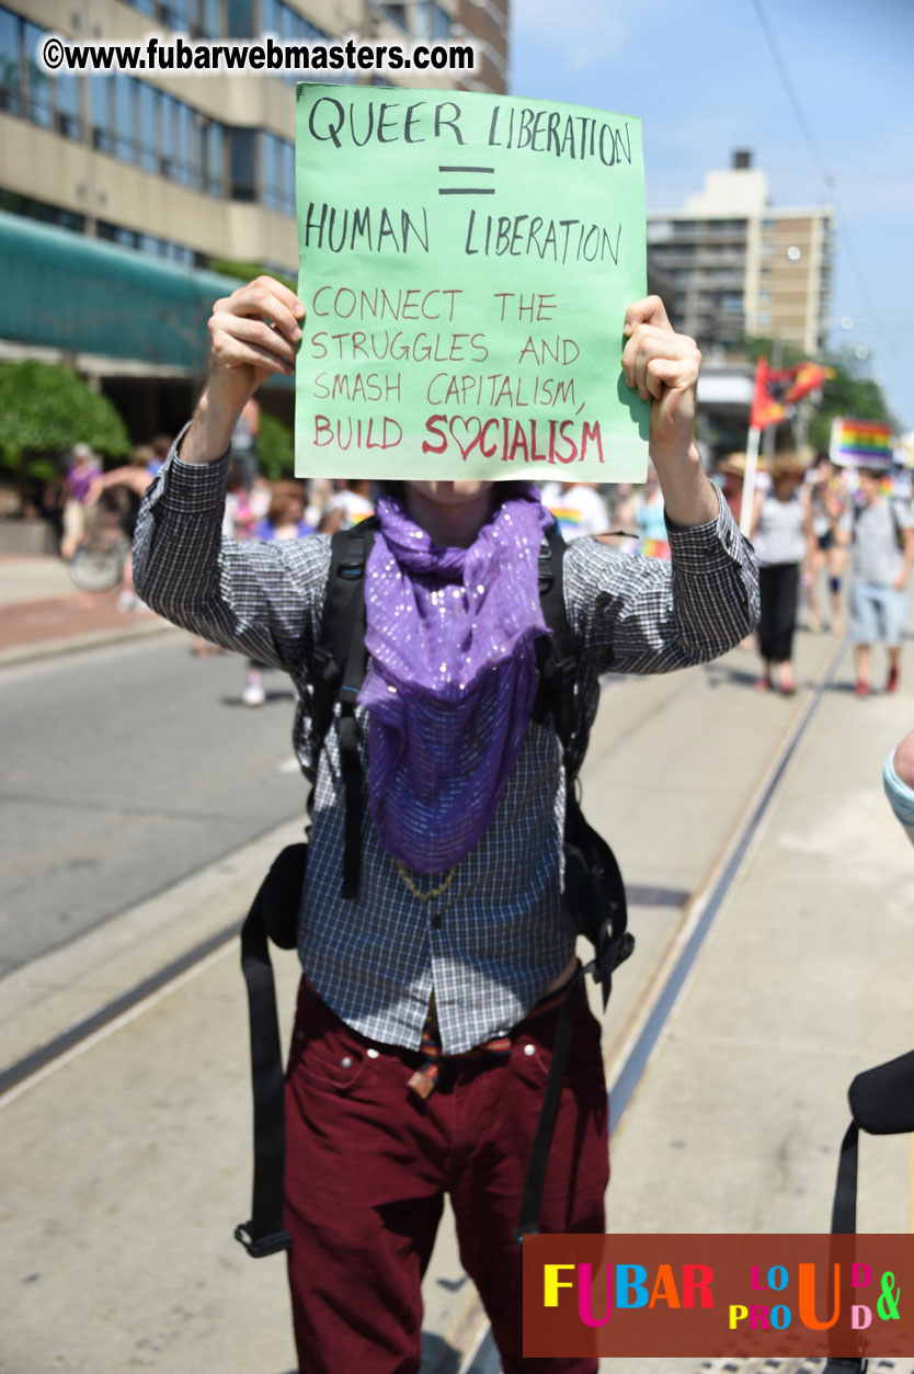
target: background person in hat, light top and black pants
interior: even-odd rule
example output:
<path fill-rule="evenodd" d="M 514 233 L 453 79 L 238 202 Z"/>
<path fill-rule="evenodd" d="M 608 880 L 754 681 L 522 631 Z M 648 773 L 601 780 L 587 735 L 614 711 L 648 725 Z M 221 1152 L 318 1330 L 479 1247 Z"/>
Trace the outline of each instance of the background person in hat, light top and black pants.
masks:
<path fill-rule="evenodd" d="M 812 539 L 808 502 L 800 495 L 806 463 L 796 453 L 778 453 L 771 463 L 771 488 L 756 492 L 749 537 L 759 559 L 759 649 L 762 676 L 758 687 L 771 691 L 773 672 L 784 697 L 796 691 L 793 632 L 796 629 L 800 566 Z"/>

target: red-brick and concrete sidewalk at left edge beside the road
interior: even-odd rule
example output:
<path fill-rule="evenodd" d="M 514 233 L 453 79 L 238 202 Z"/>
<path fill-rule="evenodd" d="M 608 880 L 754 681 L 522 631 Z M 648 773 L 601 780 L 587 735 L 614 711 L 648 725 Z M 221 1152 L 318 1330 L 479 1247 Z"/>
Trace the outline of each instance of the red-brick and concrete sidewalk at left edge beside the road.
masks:
<path fill-rule="evenodd" d="M 118 610 L 117 589 L 81 592 L 59 558 L 0 556 L 0 666 L 173 631 L 158 616 Z"/>

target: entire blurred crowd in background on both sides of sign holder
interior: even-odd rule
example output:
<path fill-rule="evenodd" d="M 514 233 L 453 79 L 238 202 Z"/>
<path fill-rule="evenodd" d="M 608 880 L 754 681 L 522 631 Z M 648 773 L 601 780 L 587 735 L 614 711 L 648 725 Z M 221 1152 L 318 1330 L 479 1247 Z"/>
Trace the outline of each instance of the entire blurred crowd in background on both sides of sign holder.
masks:
<path fill-rule="evenodd" d="M 375 511 L 376 484 L 368 480 L 270 482 L 257 466 L 259 411 L 246 408 L 232 438 L 232 466 L 222 533 L 233 540 L 301 539 L 305 534 L 350 529 Z M 59 525 L 60 554 L 70 558 L 85 537 L 91 511 L 108 503 L 118 513 L 128 539 L 136 513 L 172 444 L 158 434 L 137 445 L 128 464 L 103 473 L 88 444 L 75 444 L 51 500 Z M 742 506 L 745 455 L 731 453 L 711 473 L 738 521 Z M 670 558 L 663 493 L 651 464 L 642 486 L 627 482 L 542 484 L 543 504 L 556 518 L 564 540 L 596 536 L 623 551 Z M 855 646 L 855 692 L 873 692 L 873 644 L 888 657 L 885 690 L 900 683 L 900 646 L 904 638 L 906 587 L 914 555 L 914 511 L 907 473 L 888 469 L 837 467 L 828 453 L 806 463 L 796 453 L 780 453 L 762 463 L 756 475 L 749 539 L 760 569 L 762 620 L 755 636 L 762 660 L 759 691 L 796 691 L 793 640 L 806 616 L 806 628 L 840 636 L 845 603 Z M 849 583 L 847 573 L 849 573 Z M 130 558 L 124 567 L 118 606 L 143 609 L 133 591 Z M 752 640 L 744 647 L 751 647 Z M 199 636 L 194 653 L 220 650 Z M 243 690 L 248 706 L 265 702 L 265 666 L 251 660 Z"/>

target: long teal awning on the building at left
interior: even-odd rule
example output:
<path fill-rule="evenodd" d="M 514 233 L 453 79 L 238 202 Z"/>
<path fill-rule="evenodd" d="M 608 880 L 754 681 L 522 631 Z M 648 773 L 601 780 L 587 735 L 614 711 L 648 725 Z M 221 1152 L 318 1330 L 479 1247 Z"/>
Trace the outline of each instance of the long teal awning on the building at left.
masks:
<path fill-rule="evenodd" d="M 0 212 L 0 338 L 202 374 L 237 280 Z"/>

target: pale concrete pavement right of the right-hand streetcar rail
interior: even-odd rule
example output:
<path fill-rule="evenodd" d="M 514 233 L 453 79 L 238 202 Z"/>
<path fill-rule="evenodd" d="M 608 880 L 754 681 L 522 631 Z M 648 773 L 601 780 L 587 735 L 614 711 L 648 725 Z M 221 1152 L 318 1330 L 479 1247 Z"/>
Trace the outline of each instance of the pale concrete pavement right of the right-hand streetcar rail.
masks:
<path fill-rule="evenodd" d="M 611 1231 L 828 1231 L 849 1083 L 914 1043 L 914 851 L 881 780 L 914 702 L 852 688 L 848 651 L 616 1134 Z M 911 1150 L 862 1135 L 860 1232 L 914 1228 Z"/>

